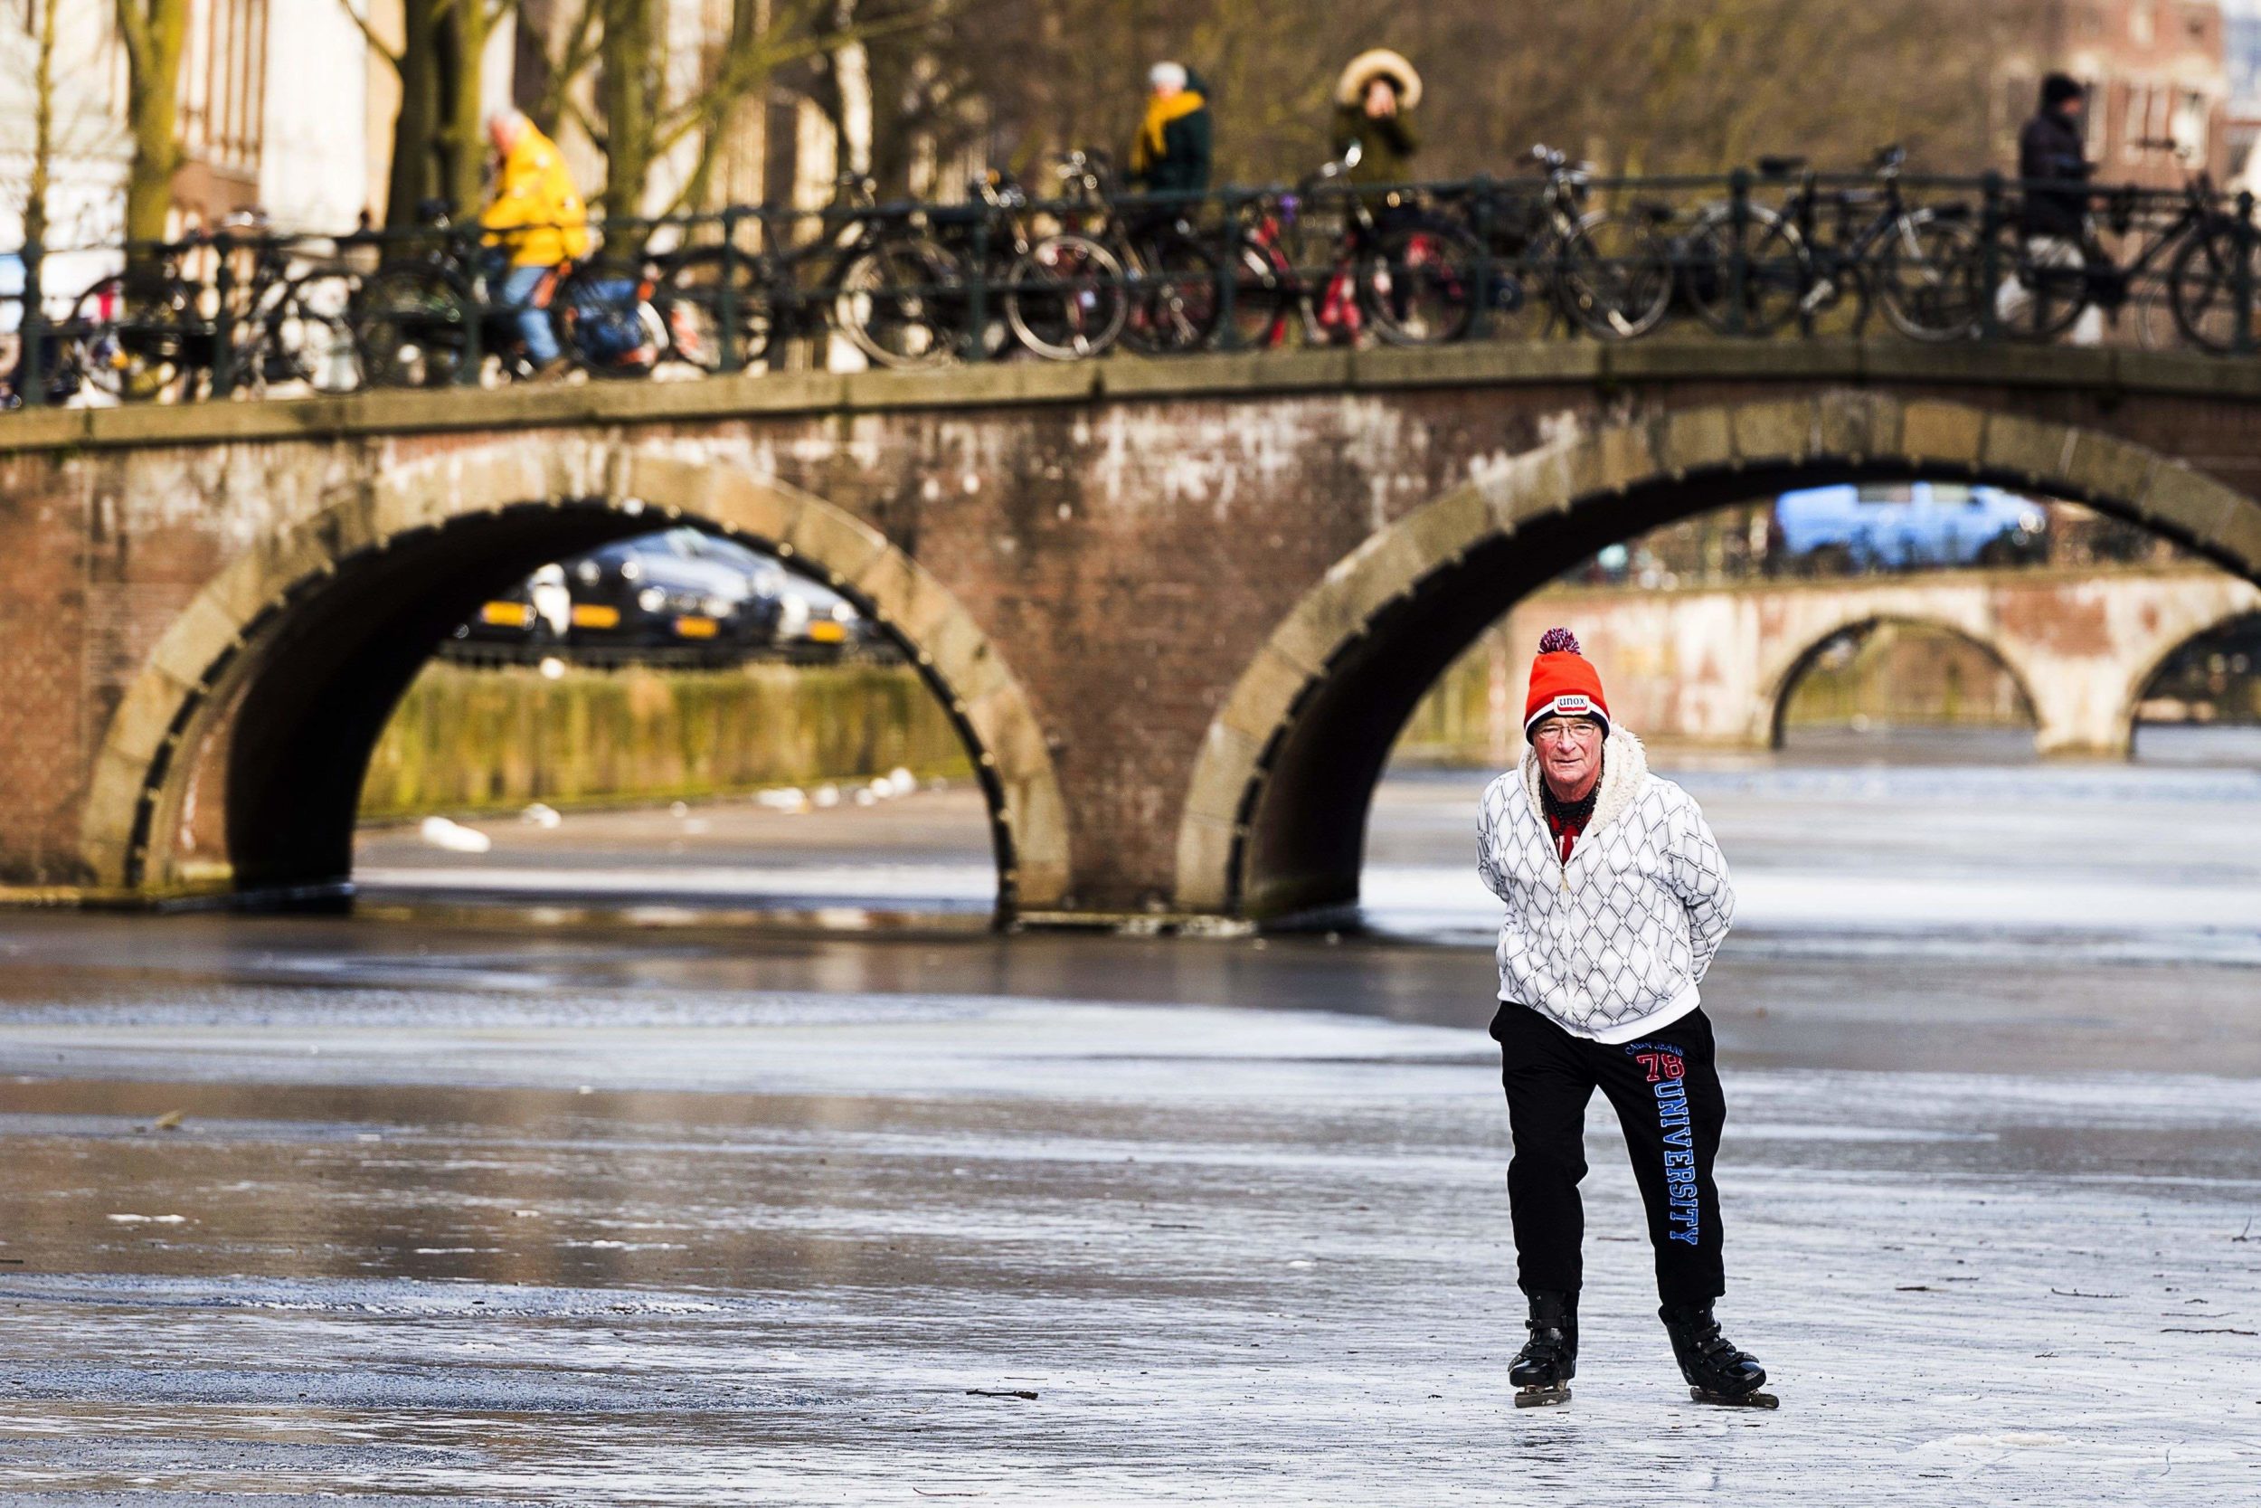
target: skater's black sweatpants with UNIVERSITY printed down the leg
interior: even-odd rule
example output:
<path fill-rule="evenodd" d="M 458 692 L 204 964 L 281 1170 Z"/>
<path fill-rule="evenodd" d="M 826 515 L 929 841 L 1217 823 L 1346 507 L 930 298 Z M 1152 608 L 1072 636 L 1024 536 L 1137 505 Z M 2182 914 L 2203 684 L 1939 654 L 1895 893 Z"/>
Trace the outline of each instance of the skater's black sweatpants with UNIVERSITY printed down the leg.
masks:
<path fill-rule="evenodd" d="M 1689 1011 L 1639 1042 L 1574 1038 L 1517 1004 L 1492 1017 L 1508 1087 L 1508 1205 L 1515 1219 L 1517 1282 L 1576 1293 L 1585 1207 L 1585 1106 L 1601 1087 L 1626 1128 L 1632 1178 L 1648 1205 L 1657 1248 L 1657 1293 L 1666 1305 L 1703 1307 L 1727 1291 L 1718 1246 L 1718 1187 L 1712 1160 L 1727 1101 L 1712 1060 L 1712 1022 Z"/>

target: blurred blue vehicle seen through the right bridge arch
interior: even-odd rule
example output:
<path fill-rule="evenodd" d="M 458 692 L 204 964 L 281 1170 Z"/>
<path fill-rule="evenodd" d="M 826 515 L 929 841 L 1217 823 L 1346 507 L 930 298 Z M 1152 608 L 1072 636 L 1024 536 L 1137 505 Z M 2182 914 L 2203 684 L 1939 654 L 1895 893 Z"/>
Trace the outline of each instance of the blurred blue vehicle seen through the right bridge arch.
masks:
<path fill-rule="evenodd" d="M 1822 570 L 2010 565 L 2039 558 L 2042 504 L 1999 486 L 1807 486 L 1775 500 L 1782 552 Z"/>

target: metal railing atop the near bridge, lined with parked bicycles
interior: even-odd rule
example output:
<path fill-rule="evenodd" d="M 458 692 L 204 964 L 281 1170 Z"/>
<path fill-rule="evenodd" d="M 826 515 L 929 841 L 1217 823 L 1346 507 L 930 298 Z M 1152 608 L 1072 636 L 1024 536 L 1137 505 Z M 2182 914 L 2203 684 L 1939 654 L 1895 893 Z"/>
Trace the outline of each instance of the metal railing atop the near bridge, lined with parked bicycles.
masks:
<path fill-rule="evenodd" d="M 1047 194 L 733 206 L 588 226 L 509 303 L 475 224 L 0 258 L 0 405 L 194 402 L 387 387 L 936 369 L 1128 350 L 1472 339 L 2110 341 L 2254 350 L 2250 194 L 1865 172 L 1795 158 L 1610 179 L 1528 172 L 1124 194 L 1085 154 Z M 63 283 L 59 285 L 59 278 Z M 540 335 L 547 332 L 549 341 Z M 543 359 L 556 344 L 558 357 Z"/>

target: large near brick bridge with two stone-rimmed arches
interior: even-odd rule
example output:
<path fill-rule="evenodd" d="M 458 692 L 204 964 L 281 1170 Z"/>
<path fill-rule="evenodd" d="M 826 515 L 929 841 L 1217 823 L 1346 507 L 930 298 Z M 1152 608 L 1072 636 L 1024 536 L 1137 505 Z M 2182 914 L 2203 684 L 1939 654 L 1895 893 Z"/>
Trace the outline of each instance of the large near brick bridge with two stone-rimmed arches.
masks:
<path fill-rule="evenodd" d="M 1861 341 L 16 414 L 0 882 L 339 895 L 369 748 L 448 626 L 681 518 L 909 649 L 981 771 L 1008 913 L 1325 907 L 1422 690 L 1596 547 L 1786 486 L 1978 477 L 2252 581 L 2256 421 L 2261 364 Z"/>

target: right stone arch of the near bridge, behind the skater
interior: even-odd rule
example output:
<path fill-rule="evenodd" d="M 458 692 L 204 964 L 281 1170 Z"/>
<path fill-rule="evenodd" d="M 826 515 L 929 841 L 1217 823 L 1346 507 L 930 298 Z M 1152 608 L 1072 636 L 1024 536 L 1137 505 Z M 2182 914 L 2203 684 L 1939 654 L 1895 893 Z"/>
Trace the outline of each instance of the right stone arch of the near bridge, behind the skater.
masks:
<path fill-rule="evenodd" d="M 1178 909 L 1352 904 L 1375 780 L 1420 694 L 1601 545 L 1791 486 L 1942 475 L 2085 502 L 2261 581 L 2261 504 L 2082 425 L 1838 387 L 1583 427 L 1368 536 L 1287 613 L 1203 735 Z"/>

